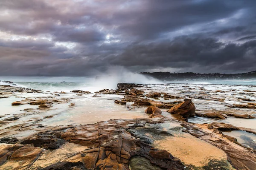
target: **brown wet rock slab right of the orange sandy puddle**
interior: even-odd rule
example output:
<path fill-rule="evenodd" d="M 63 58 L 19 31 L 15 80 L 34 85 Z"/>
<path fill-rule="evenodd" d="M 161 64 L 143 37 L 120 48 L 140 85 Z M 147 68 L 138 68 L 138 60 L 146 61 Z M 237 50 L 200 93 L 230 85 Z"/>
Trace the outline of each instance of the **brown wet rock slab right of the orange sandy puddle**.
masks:
<path fill-rule="evenodd" d="M 214 122 L 211 125 L 192 125 L 186 123 L 186 132 L 202 139 L 227 153 L 228 160 L 238 170 L 253 170 L 256 167 L 256 154 L 228 139 L 219 130 L 246 130 L 230 124 Z M 205 130 L 207 129 L 207 130 Z M 250 131 L 247 129 L 247 131 Z M 201 134 L 201 135 L 198 135 Z"/>

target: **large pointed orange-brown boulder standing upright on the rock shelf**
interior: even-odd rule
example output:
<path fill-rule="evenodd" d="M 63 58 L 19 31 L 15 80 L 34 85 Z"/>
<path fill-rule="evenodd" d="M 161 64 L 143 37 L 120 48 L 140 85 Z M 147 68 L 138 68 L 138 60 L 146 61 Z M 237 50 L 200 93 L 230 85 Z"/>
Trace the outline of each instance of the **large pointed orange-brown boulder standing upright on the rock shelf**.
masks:
<path fill-rule="evenodd" d="M 180 114 L 184 118 L 195 116 L 195 105 L 192 99 L 185 99 L 184 102 L 170 108 L 167 112 Z"/>

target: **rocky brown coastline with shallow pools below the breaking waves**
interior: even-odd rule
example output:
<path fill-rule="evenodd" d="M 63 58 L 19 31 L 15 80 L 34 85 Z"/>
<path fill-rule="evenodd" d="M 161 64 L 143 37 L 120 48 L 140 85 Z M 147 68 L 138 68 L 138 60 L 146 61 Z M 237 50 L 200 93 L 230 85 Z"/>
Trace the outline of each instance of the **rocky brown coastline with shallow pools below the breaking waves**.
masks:
<path fill-rule="evenodd" d="M 1 168 L 135 170 L 138 167 L 133 162 L 139 160 L 142 166 L 162 169 L 216 166 L 251 169 L 256 166 L 253 143 L 244 145 L 224 132 L 256 134 L 255 123 L 248 123 L 254 121 L 256 115 L 253 88 L 250 85 L 126 83 L 119 84 L 116 90 L 88 93 L 1 85 L 1 96 L 12 99 L 8 102 L 20 100 L 16 102 L 18 106 L 10 107 L 25 107 L 22 111 L 1 115 Z M 213 122 L 199 124 L 196 120 L 193 122 L 195 118 L 166 112 L 186 98 L 195 103 L 195 118 Z M 97 119 L 80 113 L 89 106 L 94 110 L 99 107 Z M 156 106 L 162 113 L 149 115 L 144 112 L 148 106 Z M 67 117 L 74 111 L 78 117 Z M 115 117 L 117 115 L 120 117 Z M 60 117 L 69 121 L 59 120 Z M 86 122 L 83 119 L 92 122 L 83 123 Z M 240 125 L 237 120 L 247 121 L 245 124 L 249 126 L 237 127 Z M 200 147 L 195 149 L 195 145 Z M 203 148 L 205 156 L 198 153 Z"/>

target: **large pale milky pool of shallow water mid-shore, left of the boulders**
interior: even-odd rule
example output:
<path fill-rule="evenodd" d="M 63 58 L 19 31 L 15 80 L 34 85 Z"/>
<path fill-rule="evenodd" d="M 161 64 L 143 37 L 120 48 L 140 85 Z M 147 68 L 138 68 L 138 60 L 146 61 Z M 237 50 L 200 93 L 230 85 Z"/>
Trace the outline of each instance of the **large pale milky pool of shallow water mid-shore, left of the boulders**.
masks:
<path fill-rule="evenodd" d="M 134 119 L 146 118 L 145 108 L 129 110 L 125 105 L 114 103 L 120 95 L 101 95 L 102 97 L 81 97 L 72 99 L 74 107 L 52 117 L 44 119 L 40 123 L 43 125 L 79 125 L 90 124 L 109 119 Z M 108 98 L 107 98 L 108 97 Z"/>

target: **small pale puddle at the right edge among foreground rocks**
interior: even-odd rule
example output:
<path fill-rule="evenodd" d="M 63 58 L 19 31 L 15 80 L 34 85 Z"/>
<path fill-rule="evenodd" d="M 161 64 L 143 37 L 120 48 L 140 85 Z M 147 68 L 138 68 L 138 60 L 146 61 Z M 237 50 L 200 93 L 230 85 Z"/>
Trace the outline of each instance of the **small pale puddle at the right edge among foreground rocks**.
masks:
<path fill-rule="evenodd" d="M 237 142 L 245 147 L 250 147 L 251 149 L 256 150 L 256 135 L 253 133 L 248 133 L 242 130 L 233 130 L 231 132 L 223 132 L 223 134 L 232 136 L 237 139 Z"/>

